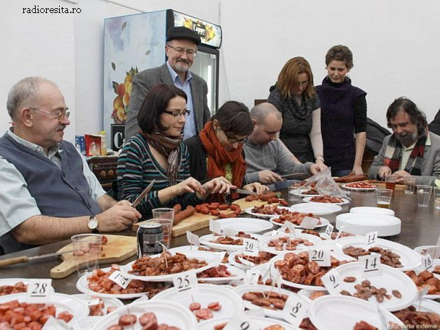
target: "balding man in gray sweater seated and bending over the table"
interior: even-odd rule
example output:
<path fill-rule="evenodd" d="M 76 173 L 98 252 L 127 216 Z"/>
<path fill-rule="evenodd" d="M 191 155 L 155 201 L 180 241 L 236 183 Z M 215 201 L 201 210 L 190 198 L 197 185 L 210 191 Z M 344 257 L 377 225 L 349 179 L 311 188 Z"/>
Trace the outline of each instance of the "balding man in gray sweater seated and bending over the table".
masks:
<path fill-rule="evenodd" d="M 318 165 L 311 162 L 301 164 L 277 138 L 283 117 L 273 104 L 257 104 L 250 115 L 254 131 L 243 147 L 247 164 L 246 181 L 272 184 L 283 181 L 280 175 L 302 172 L 313 175 L 318 172 Z"/>

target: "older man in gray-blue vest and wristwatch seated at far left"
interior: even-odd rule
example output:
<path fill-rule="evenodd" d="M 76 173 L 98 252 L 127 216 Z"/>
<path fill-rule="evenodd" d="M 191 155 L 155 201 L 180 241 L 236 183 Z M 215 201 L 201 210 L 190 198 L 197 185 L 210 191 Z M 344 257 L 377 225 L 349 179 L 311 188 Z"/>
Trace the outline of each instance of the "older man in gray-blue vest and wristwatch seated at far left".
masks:
<path fill-rule="evenodd" d="M 0 245 L 5 253 L 88 232 L 126 230 L 141 217 L 109 197 L 75 146 L 61 91 L 28 77 L 8 94 L 13 127 L 0 137 Z"/>

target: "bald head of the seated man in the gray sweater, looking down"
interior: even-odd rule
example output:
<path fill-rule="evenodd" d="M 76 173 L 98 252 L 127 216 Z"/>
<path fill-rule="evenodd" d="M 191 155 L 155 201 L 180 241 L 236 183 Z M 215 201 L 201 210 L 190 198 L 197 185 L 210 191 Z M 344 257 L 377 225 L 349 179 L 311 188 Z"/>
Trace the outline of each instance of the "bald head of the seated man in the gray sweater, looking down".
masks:
<path fill-rule="evenodd" d="M 249 140 L 260 146 L 269 144 L 276 140 L 276 134 L 281 130 L 283 116 L 273 104 L 260 103 L 250 111 L 250 116 L 254 121 L 254 131 Z"/>

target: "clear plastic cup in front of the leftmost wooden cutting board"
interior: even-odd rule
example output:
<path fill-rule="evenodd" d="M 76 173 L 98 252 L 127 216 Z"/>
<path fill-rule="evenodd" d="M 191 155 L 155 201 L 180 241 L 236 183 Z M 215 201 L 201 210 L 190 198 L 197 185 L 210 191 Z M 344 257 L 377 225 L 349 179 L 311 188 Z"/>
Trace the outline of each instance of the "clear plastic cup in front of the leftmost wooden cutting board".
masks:
<path fill-rule="evenodd" d="M 83 276 L 99 268 L 102 235 L 79 234 L 70 238 L 74 245 L 76 274 Z"/>

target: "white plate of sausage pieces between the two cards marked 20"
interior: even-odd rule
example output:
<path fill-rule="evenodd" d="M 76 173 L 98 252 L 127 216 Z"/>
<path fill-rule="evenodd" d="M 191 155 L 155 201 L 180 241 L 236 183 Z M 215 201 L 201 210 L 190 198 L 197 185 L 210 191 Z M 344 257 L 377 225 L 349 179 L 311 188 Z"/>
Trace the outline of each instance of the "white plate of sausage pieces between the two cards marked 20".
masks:
<path fill-rule="evenodd" d="M 269 246 L 270 242 L 279 241 L 282 237 L 287 240 L 283 245 Z M 304 243 L 298 245 L 289 244 L 289 241 L 295 241 L 296 239 L 304 240 Z M 270 252 L 273 254 L 282 254 L 285 252 L 291 252 L 295 250 L 308 250 L 310 247 L 316 248 L 322 244 L 322 239 L 320 237 L 310 234 L 280 234 L 276 236 L 269 236 L 261 239 L 259 243 L 259 248 L 261 251 Z"/>

